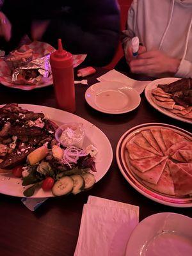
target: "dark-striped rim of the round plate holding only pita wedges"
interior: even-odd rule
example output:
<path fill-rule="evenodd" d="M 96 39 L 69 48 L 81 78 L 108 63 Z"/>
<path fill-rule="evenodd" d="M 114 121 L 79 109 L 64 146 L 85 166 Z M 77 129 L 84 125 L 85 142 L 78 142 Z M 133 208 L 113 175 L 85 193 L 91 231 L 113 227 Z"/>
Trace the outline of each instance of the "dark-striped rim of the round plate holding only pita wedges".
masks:
<path fill-rule="evenodd" d="M 184 134 L 188 134 L 188 136 L 192 136 L 191 132 L 186 131 L 180 127 L 177 127 L 175 125 L 170 125 L 170 124 L 163 124 L 163 123 L 145 123 L 145 124 L 140 124 L 140 125 L 136 125 L 134 127 L 132 127 L 131 129 L 129 129 L 128 131 L 124 132 L 124 134 L 122 134 L 122 136 L 120 137 L 120 140 L 118 141 L 117 145 L 116 145 L 116 162 L 118 164 L 118 168 L 120 169 L 120 172 L 122 173 L 122 175 L 124 176 L 125 180 L 127 180 L 127 182 L 129 182 L 129 184 L 136 189 L 139 193 L 141 193 L 141 195 L 146 196 L 147 198 L 158 202 L 160 204 L 163 205 L 169 205 L 172 207 L 192 207 L 192 196 L 189 198 L 189 202 L 182 202 L 182 203 L 177 203 L 175 202 L 177 200 L 177 198 L 175 198 L 175 200 L 171 201 L 171 197 L 170 196 L 166 196 L 163 193 L 159 193 L 155 190 L 152 190 L 150 188 L 147 188 L 144 184 L 141 184 L 141 182 L 136 179 L 136 177 L 134 177 L 134 175 L 132 175 L 130 170 L 127 170 L 127 168 L 125 168 L 124 164 L 123 164 L 123 160 L 122 160 L 122 154 L 121 154 L 121 150 L 122 150 L 122 145 L 124 143 L 124 140 L 131 134 L 133 134 L 133 132 L 136 131 L 140 131 L 139 129 L 141 129 L 142 127 L 150 127 L 150 126 L 163 126 L 164 128 L 168 128 L 171 127 L 172 129 L 176 129 L 179 130 L 180 132 L 183 132 Z M 144 190 L 143 190 L 144 189 Z M 161 199 L 162 198 L 162 199 Z M 168 201 L 163 200 L 163 198 L 167 198 Z M 179 198 L 178 198 L 179 200 Z"/>

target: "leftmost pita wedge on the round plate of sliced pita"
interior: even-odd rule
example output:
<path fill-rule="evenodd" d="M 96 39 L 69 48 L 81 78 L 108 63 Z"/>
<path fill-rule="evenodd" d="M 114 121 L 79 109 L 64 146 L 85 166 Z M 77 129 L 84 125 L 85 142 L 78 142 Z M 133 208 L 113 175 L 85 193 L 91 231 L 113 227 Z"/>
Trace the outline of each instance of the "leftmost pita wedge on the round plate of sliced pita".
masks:
<path fill-rule="evenodd" d="M 154 153 L 149 152 L 148 150 L 145 150 L 135 143 L 127 143 L 126 148 L 129 152 L 129 157 L 134 160 L 134 159 L 143 159 L 147 157 L 154 157 L 156 156 Z"/>

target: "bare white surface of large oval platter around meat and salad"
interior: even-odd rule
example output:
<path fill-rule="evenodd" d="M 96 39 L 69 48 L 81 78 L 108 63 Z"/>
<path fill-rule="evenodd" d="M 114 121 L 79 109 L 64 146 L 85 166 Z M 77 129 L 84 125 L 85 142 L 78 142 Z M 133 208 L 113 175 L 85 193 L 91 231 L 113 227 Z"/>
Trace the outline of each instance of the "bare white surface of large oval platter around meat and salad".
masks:
<path fill-rule="evenodd" d="M 19 104 L 19 106 L 24 109 L 28 109 L 29 111 L 35 111 L 38 113 L 42 112 L 47 118 L 49 118 L 49 120 L 52 120 L 58 125 L 68 122 L 82 123 L 85 130 L 83 148 L 89 144 L 93 144 L 95 145 L 95 147 L 97 147 L 99 151 L 96 156 L 97 172 L 93 173 L 95 175 L 96 182 L 102 179 L 106 172 L 108 172 L 113 159 L 113 151 L 106 135 L 102 131 L 100 131 L 100 129 L 97 128 L 95 125 L 91 124 L 90 122 L 84 120 L 77 115 L 62 111 L 60 109 L 29 104 Z M 1 105 L 0 108 L 1 107 L 3 107 L 3 105 Z M 0 174 L 0 193 L 5 195 L 23 197 L 24 188 L 21 183 L 21 179 L 15 178 L 11 174 L 7 176 Z M 45 192 L 42 188 L 40 188 L 36 189 L 35 194 L 31 197 L 44 198 L 51 196 L 53 196 L 51 191 Z"/>

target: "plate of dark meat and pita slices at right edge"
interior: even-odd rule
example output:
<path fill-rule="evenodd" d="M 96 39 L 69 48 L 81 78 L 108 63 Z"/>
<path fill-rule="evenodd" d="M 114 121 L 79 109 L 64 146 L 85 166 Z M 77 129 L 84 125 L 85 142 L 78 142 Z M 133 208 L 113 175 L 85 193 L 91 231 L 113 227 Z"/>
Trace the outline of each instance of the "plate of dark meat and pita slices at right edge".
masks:
<path fill-rule="evenodd" d="M 156 79 L 146 86 L 145 97 L 164 115 L 192 124 L 191 78 Z"/>

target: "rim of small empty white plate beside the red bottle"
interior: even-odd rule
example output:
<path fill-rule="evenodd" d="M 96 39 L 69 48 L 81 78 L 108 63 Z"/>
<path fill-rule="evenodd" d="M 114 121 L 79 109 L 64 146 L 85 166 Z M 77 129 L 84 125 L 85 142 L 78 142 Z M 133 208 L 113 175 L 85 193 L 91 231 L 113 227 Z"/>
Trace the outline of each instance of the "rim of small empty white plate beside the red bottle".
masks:
<path fill-rule="evenodd" d="M 138 101 L 136 103 L 136 106 L 134 106 L 131 109 L 127 109 L 127 110 L 123 110 L 123 111 L 116 111 L 116 112 L 99 108 L 99 106 L 97 106 L 97 104 L 95 104 L 95 101 L 90 100 L 90 97 L 87 96 L 87 93 L 90 93 L 93 86 L 96 86 L 97 84 L 103 84 L 103 83 L 121 84 L 125 88 L 129 88 L 130 90 L 132 90 L 132 92 L 136 93 L 135 95 L 137 95 L 137 97 L 138 97 L 138 99 L 137 99 Z M 111 89 L 113 89 L 113 87 Z M 102 82 L 92 84 L 89 88 L 87 88 L 86 92 L 84 93 L 84 98 L 85 98 L 86 102 L 88 103 L 88 105 L 91 106 L 93 109 L 95 109 L 99 112 L 102 112 L 102 113 L 110 114 L 110 115 L 120 115 L 120 114 L 129 113 L 129 112 L 133 111 L 134 109 L 138 108 L 138 106 L 140 106 L 140 103 L 141 103 L 140 93 L 138 93 L 134 88 L 127 86 L 127 84 L 117 82 L 117 81 L 102 81 Z"/>

